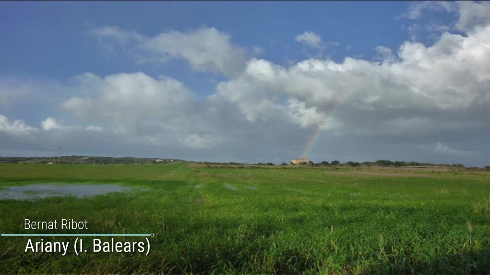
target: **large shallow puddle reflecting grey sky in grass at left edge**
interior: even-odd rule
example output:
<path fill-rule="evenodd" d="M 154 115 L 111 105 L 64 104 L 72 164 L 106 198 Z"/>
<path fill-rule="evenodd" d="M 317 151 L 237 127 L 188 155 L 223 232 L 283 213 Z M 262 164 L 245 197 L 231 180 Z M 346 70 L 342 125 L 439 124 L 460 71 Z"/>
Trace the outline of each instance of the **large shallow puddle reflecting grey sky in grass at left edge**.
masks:
<path fill-rule="evenodd" d="M 116 184 L 31 184 L 24 186 L 1 186 L 0 200 L 35 200 L 55 196 L 83 198 L 130 190 L 131 188 L 129 187 Z"/>

